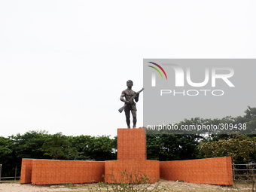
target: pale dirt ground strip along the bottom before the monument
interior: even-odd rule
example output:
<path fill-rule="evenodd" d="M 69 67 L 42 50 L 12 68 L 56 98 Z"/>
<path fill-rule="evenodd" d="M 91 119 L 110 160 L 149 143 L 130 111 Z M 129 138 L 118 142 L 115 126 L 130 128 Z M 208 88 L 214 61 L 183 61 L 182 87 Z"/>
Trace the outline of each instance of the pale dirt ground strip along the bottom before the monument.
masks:
<path fill-rule="evenodd" d="M 154 190 L 157 184 L 147 186 L 148 190 Z M 50 191 L 92 191 L 107 190 L 105 186 L 99 184 L 52 184 L 52 185 L 32 185 L 20 183 L 0 183 L 0 192 L 50 192 Z M 251 191 L 248 184 L 234 184 L 233 187 L 219 186 L 212 184 L 192 184 L 180 181 L 160 181 L 156 191 Z"/>

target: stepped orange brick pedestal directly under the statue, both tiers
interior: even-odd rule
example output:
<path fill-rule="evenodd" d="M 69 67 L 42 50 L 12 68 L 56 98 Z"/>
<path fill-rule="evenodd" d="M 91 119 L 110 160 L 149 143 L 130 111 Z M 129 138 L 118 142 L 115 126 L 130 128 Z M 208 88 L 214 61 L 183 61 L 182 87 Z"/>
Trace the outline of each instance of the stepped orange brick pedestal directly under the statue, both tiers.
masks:
<path fill-rule="evenodd" d="M 117 129 L 117 160 L 105 161 L 108 183 L 144 183 L 160 178 L 160 162 L 147 160 L 146 130 Z"/>

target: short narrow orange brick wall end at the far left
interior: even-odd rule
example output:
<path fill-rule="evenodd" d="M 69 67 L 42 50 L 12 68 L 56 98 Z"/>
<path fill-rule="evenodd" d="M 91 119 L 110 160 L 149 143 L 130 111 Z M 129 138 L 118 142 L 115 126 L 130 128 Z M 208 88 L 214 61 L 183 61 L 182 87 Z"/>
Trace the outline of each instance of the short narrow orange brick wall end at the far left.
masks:
<path fill-rule="evenodd" d="M 20 183 L 31 183 L 32 159 L 22 159 Z"/>

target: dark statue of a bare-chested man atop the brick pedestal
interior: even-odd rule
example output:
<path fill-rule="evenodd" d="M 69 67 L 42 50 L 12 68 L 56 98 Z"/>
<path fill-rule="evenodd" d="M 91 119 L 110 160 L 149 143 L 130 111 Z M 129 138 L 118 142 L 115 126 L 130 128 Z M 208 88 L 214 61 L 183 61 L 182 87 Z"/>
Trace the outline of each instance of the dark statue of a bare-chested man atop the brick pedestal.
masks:
<path fill-rule="evenodd" d="M 130 111 L 132 111 L 132 114 L 133 114 L 133 128 L 136 128 L 136 123 L 137 123 L 136 111 L 137 111 L 137 108 L 136 108 L 136 103 L 134 102 L 134 100 L 136 102 L 139 101 L 139 93 L 136 93 L 135 91 L 132 90 L 133 81 L 128 80 L 126 82 L 126 85 L 127 85 L 127 89 L 122 91 L 122 94 L 120 96 L 120 100 L 122 102 L 125 102 L 125 104 L 126 104 L 126 108 L 124 108 L 124 112 L 125 112 L 126 123 L 127 123 L 128 129 L 130 129 Z M 134 100 L 129 101 L 129 99 L 131 99 L 135 94 L 137 94 L 137 96 L 134 98 Z"/>

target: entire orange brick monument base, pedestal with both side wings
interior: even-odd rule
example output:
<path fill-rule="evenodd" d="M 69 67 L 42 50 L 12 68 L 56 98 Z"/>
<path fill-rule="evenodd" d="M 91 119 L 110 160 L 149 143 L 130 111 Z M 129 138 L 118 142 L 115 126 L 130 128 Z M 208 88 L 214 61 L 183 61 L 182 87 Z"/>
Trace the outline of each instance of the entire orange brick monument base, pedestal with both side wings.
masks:
<path fill-rule="evenodd" d="M 231 157 L 159 162 L 146 160 L 145 129 L 117 130 L 117 160 L 23 159 L 20 183 L 145 183 L 159 178 L 199 184 L 233 184 Z"/>

